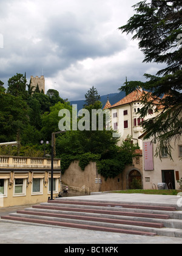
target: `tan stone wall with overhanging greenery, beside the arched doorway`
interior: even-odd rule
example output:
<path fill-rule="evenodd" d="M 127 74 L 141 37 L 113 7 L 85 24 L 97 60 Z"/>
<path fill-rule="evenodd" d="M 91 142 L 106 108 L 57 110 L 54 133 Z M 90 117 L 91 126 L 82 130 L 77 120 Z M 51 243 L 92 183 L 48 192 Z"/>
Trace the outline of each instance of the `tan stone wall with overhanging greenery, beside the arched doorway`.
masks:
<path fill-rule="evenodd" d="M 113 191 L 113 190 L 127 190 L 129 189 L 129 174 L 134 169 L 141 174 L 141 182 L 143 185 L 142 173 L 142 157 L 133 158 L 133 164 L 126 166 L 123 173 L 116 176 L 114 179 L 107 179 L 101 174 L 98 174 L 96 163 L 90 162 L 85 170 L 79 167 L 79 162 L 74 161 L 69 168 L 62 174 L 62 182 L 72 187 L 86 187 L 90 188 L 90 192 L 99 191 Z"/>

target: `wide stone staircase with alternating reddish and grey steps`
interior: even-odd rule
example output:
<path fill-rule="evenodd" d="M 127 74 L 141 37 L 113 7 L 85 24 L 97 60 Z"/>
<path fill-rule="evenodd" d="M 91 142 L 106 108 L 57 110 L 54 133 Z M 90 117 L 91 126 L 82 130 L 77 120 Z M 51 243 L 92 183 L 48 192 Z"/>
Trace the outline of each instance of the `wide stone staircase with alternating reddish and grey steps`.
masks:
<path fill-rule="evenodd" d="M 21 221 L 74 229 L 182 238 L 182 212 L 175 207 L 60 198 L 7 216 Z"/>

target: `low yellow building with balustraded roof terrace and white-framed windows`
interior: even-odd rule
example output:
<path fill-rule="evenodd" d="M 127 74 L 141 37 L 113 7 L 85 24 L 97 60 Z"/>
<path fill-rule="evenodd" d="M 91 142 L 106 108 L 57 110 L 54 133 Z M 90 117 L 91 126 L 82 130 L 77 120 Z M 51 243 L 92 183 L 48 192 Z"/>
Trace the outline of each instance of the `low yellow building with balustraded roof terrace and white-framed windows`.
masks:
<path fill-rule="evenodd" d="M 60 191 L 60 159 L 54 159 L 53 196 Z M 0 156 L 0 207 L 47 202 L 51 159 Z"/>

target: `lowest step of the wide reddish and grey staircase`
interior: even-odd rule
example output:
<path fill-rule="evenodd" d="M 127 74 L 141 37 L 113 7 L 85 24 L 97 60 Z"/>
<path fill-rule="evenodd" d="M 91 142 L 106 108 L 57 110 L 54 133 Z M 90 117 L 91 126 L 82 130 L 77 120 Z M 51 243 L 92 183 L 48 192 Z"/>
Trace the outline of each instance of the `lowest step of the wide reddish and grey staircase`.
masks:
<path fill-rule="evenodd" d="M 6 216 L 4 216 L 6 219 Z M 162 236 L 176 236 L 182 238 L 182 232 L 179 229 L 169 229 L 169 228 L 155 228 L 155 227 L 143 227 L 143 226 L 133 226 L 129 224 L 113 224 L 113 223 L 103 223 L 98 221 L 84 221 L 78 219 L 60 219 L 58 217 L 50 216 L 35 216 L 35 215 L 24 215 L 19 213 L 10 213 L 7 219 L 14 221 L 23 221 L 37 224 L 49 224 L 53 226 L 62 226 L 62 227 L 72 227 L 83 229 L 100 230 L 108 232 L 119 232 L 121 233 L 132 233 L 137 235 L 162 235 Z M 96 228 L 97 227 L 97 228 Z M 108 230 L 107 230 L 108 229 Z M 116 231 L 118 230 L 118 231 Z"/>

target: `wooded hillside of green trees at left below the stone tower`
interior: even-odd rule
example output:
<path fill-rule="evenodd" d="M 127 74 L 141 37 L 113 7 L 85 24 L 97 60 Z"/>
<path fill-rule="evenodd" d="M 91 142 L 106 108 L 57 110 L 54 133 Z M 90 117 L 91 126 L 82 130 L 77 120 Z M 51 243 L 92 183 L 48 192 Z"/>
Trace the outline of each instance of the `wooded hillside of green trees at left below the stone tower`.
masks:
<path fill-rule="evenodd" d="M 31 81 L 27 84 L 26 77 L 22 74 L 17 73 L 8 80 L 7 91 L 3 85 L 4 83 L 0 80 L 0 142 L 18 140 L 21 141 L 22 147 L 32 148 L 33 144 L 39 151 L 40 141 L 42 139 L 50 141 L 51 133 L 54 129 L 58 129 L 58 123 L 53 127 L 52 121 L 50 129 L 49 123 L 46 123 L 51 119 L 47 117 L 52 112 L 50 107 L 55 105 L 55 101 L 57 104 L 60 101 L 64 104 L 64 101 L 59 98 L 58 91 L 55 92 L 55 90 L 52 97 L 39 91 L 36 93 L 33 91 L 35 88 L 31 87 Z M 46 125 L 42 129 L 44 118 Z M 19 151 L 15 152 L 19 154 Z M 48 153 L 50 154 L 50 151 Z"/>

